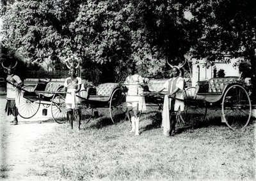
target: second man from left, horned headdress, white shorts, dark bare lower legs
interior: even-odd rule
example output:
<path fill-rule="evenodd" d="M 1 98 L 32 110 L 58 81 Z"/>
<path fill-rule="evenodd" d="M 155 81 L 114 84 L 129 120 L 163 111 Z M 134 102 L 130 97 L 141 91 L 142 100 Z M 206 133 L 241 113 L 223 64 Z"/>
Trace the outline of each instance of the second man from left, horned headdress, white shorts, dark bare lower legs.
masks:
<path fill-rule="evenodd" d="M 71 129 L 73 129 L 72 115 L 73 115 L 73 109 L 74 109 L 77 115 L 76 118 L 77 118 L 78 129 L 80 129 L 81 110 L 79 106 L 79 98 L 77 98 L 76 96 L 80 91 L 81 84 L 82 84 L 81 78 L 76 75 L 76 69 L 79 67 L 79 63 L 75 67 L 74 62 L 72 62 L 70 66 L 68 66 L 68 62 L 67 62 L 67 67 L 69 68 L 69 73 L 70 73 L 70 77 L 66 78 L 64 83 L 64 91 L 68 92 L 66 94 L 66 99 L 65 99 L 65 103 L 67 105 L 67 117 L 68 117 L 68 121 L 70 123 Z"/>

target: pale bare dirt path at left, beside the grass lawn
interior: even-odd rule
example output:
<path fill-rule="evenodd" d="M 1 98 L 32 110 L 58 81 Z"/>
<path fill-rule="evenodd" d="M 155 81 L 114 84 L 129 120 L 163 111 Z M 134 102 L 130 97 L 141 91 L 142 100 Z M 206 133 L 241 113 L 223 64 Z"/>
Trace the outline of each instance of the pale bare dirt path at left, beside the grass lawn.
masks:
<path fill-rule="evenodd" d="M 42 116 L 42 108 L 33 119 L 22 119 L 19 124 L 11 126 L 12 116 L 4 113 L 6 100 L 0 96 L 0 180 L 47 180 L 29 176 L 29 171 L 40 170 L 30 162 L 31 151 L 35 150 L 34 141 L 43 138 L 45 134 L 54 131 L 58 126 L 55 122 L 38 122 L 49 119 Z M 48 110 L 49 112 L 49 110 Z"/>

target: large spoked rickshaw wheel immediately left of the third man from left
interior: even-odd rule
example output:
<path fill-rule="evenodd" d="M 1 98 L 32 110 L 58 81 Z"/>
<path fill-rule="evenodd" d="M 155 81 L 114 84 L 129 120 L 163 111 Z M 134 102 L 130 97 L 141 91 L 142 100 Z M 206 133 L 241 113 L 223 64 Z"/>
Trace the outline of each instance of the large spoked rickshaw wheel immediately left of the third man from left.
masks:
<path fill-rule="evenodd" d="M 115 124 L 125 119 L 127 112 L 126 94 L 122 89 L 116 89 L 110 98 L 109 113 L 112 122 Z"/>

